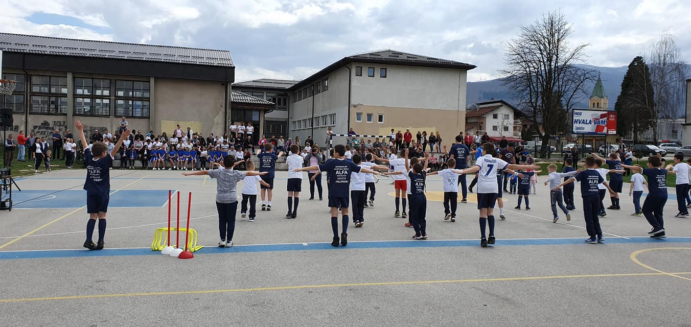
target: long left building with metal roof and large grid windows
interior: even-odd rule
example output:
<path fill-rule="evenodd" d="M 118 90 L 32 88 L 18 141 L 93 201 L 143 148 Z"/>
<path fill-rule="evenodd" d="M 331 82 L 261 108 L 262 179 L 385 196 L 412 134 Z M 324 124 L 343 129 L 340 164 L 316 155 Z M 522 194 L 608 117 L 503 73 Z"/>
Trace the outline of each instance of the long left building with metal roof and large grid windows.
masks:
<path fill-rule="evenodd" d="M 227 50 L 61 39 L 0 33 L 3 79 L 17 80 L 0 108 L 12 108 L 12 131 L 50 136 L 82 120 L 87 133 L 182 129 L 223 133 L 231 120 L 254 122 L 261 134 L 273 102 L 231 90 Z M 257 129 L 257 128 L 256 128 Z M 256 136 L 258 138 L 258 136 Z"/>

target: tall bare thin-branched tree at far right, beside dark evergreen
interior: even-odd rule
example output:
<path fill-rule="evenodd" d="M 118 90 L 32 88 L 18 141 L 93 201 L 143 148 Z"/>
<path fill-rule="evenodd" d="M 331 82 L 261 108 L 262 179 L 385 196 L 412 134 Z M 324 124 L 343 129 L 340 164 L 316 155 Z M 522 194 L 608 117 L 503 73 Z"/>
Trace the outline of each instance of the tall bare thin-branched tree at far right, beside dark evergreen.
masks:
<path fill-rule="evenodd" d="M 654 113 L 656 118 L 679 118 L 679 108 L 683 106 L 685 90 L 686 63 L 681 50 L 676 45 L 676 37 L 664 32 L 647 50 L 650 65 L 650 80 L 654 93 Z M 657 143 L 657 123 L 653 124 L 653 137 Z"/>

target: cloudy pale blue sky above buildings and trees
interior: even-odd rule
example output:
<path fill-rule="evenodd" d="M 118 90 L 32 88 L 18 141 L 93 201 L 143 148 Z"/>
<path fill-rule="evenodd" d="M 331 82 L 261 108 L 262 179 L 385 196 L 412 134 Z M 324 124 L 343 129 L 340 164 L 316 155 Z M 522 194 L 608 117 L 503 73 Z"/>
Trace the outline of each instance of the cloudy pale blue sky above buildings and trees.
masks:
<path fill-rule="evenodd" d="M 507 41 L 549 10 L 565 13 L 574 44 L 591 44 L 588 64 L 627 65 L 665 31 L 691 58 L 691 2 L 675 0 L 6 0 L 0 31 L 230 50 L 237 81 L 299 80 L 383 48 L 475 64 L 477 81 L 496 77 Z"/>

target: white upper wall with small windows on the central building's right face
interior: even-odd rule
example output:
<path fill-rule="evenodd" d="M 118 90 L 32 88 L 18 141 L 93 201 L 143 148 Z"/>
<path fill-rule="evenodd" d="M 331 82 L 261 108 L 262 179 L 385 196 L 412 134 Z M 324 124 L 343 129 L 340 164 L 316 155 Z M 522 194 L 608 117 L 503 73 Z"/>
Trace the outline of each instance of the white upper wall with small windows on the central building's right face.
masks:
<path fill-rule="evenodd" d="M 362 67 L 362 76 L 355 76 L 356 66 Z M 353 104 L 465 110 L 465 70 L 357 63 L 350 67 Z M 375 77 L 368 77 L 369 67 L 375 67 Z M 386 78 L 379 77 L 379 68 L 386 68 Z"/>

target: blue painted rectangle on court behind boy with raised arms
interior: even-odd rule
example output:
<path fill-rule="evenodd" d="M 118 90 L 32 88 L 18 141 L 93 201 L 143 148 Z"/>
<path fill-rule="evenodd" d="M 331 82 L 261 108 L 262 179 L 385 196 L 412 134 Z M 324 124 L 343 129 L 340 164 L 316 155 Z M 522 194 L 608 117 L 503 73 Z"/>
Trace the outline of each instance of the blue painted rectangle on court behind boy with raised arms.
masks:
<path fill-rule="evenodd" d="M 168 191 L 159 189 L 123 189 L 111 194 L 108 207 L 162 207 Z M 78 208 L 86 205 L 83 189 L 25 189 L 13 191 L 13 209 Z"/>

